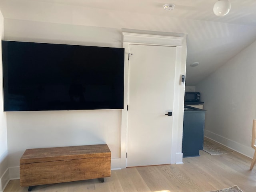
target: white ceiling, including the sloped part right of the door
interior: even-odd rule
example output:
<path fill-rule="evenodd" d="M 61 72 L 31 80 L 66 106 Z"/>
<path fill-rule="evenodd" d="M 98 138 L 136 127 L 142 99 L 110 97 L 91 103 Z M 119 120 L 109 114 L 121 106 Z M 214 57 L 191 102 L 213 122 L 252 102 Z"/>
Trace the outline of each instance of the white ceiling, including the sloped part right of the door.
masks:
<path fill-rule="evenodd" d="M 195 86 L 256 40 L 256 0 L 230 0 L 230 13 L 224 17 L 214 15 L 212 8 L 216 1 L 0 0 L 0 10 L 4 18 L 58 22 L 56 19 L 58 16 L 60 22 L 90 25 L 82 19 L 74 21 L 74 12 L 83 8 L 86 11 L 80 12 L 79 16 L 84 14 L 84 18 L 89 10 L 94 10 L 95 14 L 98 10 L 98 13 L 119 16 L 118 24 L 105 22 L 101 24 L 103 27 L 186 33 L 188 34 L 186 85 Z M 170 3 L 175 4 L 175 9 L 165 11 L 163 5 Z M 53 6 L 70 8 L 73 10 L 72 15 L 68 16 L 70 12 L 67 11 L 56 11 L 54 16 L 51 16 L 52 20 L 47 20 L 50 11 L 54 10 Z M 61 20 L 61 16 L 66 20 Z M 70 17 L 72 20 L 67 19 Z M 96 15 L 91 14 L 90 17 Z M 191 67 L 190 64 L 193 62 L 199 62 L 199 65 Z"/>

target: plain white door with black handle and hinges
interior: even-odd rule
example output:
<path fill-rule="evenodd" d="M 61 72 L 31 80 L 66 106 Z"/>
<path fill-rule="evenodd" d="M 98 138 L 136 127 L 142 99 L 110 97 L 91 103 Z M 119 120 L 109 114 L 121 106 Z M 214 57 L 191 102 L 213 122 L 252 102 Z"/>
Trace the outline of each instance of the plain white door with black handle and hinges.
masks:
<path fill-rule="evenodd" d="M 130 45 L 126 166 L 170 164 L 176 47 Z"/>

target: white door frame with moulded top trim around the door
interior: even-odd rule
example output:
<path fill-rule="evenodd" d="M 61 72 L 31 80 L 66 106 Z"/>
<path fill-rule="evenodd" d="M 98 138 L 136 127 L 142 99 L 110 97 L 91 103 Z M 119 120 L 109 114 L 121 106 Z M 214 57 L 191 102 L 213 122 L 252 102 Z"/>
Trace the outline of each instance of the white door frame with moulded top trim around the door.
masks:
<path fill-rule="evenodd" d="M 146 34 L 145 34 L 146 33 Z M 174 105 L 172 126 L 171 164 L 182 164 L 182 132 L 185 85 L 181 84 L 181 75 L 186 73 L 187 35 L 177 33 L 122 32 L 124 48 L 124 109 L 121 115 L 120 168 L 126 168 L 127 132 L 128 132 L 128 70 L 129 45 L 176 46 L 176 66 L 174 80 Z"/>

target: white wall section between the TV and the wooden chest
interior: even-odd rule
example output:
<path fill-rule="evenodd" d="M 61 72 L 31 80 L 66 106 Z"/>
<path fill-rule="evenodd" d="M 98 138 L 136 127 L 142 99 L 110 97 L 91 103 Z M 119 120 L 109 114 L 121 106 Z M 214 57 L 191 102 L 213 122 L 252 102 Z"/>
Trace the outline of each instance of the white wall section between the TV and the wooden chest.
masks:
<path fill-rule="evenodd" d="M 108 144 L 120 157 L 120 110 L 7 112 L 9 166 L 28 148 Z"/>

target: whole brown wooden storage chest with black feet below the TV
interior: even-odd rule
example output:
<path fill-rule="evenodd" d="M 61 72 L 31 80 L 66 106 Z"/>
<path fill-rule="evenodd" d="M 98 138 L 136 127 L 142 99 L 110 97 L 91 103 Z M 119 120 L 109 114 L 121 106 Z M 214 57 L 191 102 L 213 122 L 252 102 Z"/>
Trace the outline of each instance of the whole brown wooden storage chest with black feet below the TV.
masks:
<path fill-rule="evenodd" d="M 27 149 L 20 158 L 20 186 L 104 178 L 110 174 L 111 152 L 107 144 Z"/>

